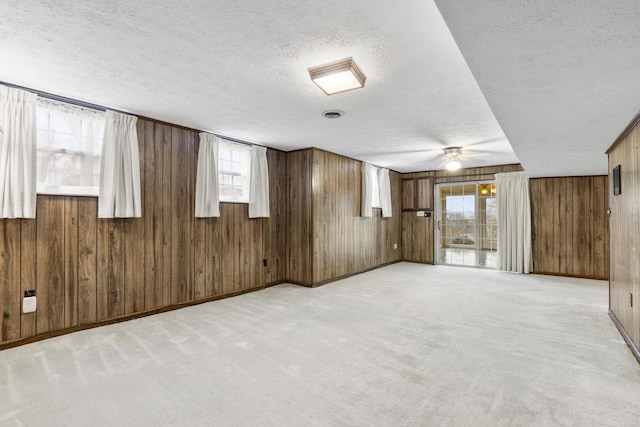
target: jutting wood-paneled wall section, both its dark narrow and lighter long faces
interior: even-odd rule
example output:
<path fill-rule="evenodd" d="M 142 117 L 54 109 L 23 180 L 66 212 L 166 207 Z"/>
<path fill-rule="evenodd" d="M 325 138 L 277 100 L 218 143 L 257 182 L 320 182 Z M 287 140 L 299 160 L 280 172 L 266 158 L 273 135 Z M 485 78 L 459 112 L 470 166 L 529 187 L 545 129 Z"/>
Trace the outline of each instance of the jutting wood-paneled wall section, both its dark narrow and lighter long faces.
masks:
<path fill-rule="evenodd" d="M 364 218 L 360 161 L 307 149 L 288 165 L 288 280 L 316 286 L 401 259 L 400 174 L 389 174 L 393 216 Z"/>

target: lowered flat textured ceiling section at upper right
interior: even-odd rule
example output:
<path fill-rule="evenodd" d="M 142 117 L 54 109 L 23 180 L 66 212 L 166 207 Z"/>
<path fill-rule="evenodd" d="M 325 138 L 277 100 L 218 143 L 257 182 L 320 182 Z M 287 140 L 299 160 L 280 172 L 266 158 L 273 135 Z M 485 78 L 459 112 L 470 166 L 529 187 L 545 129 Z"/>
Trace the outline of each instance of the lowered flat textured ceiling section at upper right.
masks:
<path fill-rule="evenodd" d="M 640 110 L 638 0 L 436 0 L 529 176 L 607 173 Z"/>

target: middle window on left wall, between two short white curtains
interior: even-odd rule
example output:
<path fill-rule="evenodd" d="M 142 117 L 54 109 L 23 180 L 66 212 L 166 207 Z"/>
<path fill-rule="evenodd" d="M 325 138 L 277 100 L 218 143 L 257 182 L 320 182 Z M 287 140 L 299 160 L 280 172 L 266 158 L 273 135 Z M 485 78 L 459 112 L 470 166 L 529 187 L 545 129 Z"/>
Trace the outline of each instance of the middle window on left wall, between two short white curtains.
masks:
<path fill-rule="evenodd" d="M 220 201 L 249 203 L 251 147 L 230 141 L 218 145 Z"/>

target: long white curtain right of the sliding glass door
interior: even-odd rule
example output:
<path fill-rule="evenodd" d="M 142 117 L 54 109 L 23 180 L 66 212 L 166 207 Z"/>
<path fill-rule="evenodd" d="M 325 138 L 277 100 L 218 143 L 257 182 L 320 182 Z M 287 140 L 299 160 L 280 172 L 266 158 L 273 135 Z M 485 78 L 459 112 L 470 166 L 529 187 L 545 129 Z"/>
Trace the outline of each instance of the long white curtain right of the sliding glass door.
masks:
<path fill-rule="evenodd" d="M 496 174 L 498 270 L 531 273 L 531 202 L 526 172 Z"/>

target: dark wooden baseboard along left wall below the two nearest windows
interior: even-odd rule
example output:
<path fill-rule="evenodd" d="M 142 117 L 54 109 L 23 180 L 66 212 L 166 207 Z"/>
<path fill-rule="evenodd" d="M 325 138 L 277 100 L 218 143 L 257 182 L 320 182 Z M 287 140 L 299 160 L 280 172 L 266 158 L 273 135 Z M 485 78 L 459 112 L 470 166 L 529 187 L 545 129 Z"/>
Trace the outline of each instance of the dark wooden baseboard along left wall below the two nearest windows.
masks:
<path fill-rule="evenodd" d="M 193 306 L 193 305 L 204 304 L 206 302 L 217 301 L 219 299 L 235 297 L 235 296 L 246 294 L 246 293 L 249 293 L 249 292 L 260 291 L 262 289 L 265 289 L 265 288 L 268 288 L 268 287 L 271 287 L 271 286 L 275 286 L 275 285 L 279 285 L 281 283 L 285 283 L 285 282 L 283 282 L 283 281 L 281 281 L 281 282 L 272 282 L 272 283 L 268 283 L 268 284 L 265 284 L 265 285 L 255 286 L 255 287 L 249 288 L 249 289 L 243 289 L 241 291 L 228 292 L 226 294 L 215 295 L 215 296 L 212 296 L 212 297 L 202 298 L 202 299 L 195 300 L 195 301 L 188 301 L 188 302 L 184 302 L 184 303 L 180 303 L 180 304 L 168 305 L 166 307 L 155 308 L 155 309 L 152 309 L 152 310 L 140 311 L 138 313 L 127 314 L 127 315 L 124 315 L 124 316 L 118 316 L 118 317 L 114 317 L 114 318 L 108 319 L 108 320 L 101 320 L 101 321 L 98 321 L 98 322 L 88 323 L 86 325 L 73 326 L 71 328 L 61 329 L 59 331 L 52 331 L 52 332 L 47 332 L 47 333 L 44 333 L 44 334 L 34 335 L 32 337 L 20 338 L 20 339 L 14 340 L 14 341 L 7 341 L 7 342 L 4 342 L 4 343 L 0 344 L 0 351 L 7 350 L 7 349 L 13 348 L 13 347 L 19 347 L 21 345 L 30 344 L 30 343 L 37 342 L 37 341 L 46 340 L 46 339 L 49 339 L 49 338 L 55 338 L 55 337 L 59 337 L 59 336 L 62 336 L 62 335 L 71 334 L 73 332 L 79 332 L 79 331 L 84 331 L 84 330 L 87 330 L 87 329 L 99 328 L 101 326 L 114 325 L 116 323 L 126 322 L 128 320 L 139 319 L 141 317 L 152 316 L 154 314 L 160 314 L 160 313 L 165 313 L 167 311 L 173 311 L 173 310 L 178 310 L 180 308 L 190 307 L 190 306 Z"/>

